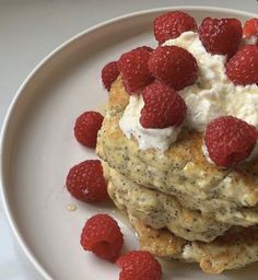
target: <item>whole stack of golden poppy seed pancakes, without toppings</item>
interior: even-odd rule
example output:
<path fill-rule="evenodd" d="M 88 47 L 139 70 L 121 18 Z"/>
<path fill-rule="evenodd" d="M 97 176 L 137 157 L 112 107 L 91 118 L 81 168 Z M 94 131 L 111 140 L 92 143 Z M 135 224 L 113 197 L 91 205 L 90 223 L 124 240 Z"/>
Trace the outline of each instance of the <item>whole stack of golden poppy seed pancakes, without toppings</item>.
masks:
<path fill-rule="evenodd" d="M 127 213 L 141 249 L 199 262 L 209 273 L 258 260 L 258 161 L 219 168 L 203 156 L 203 135 L 186 128 L 163 154 L 140 150 L 119 127 L 128 103 L 118 78 L 96 152 L 108 194 Z"/>

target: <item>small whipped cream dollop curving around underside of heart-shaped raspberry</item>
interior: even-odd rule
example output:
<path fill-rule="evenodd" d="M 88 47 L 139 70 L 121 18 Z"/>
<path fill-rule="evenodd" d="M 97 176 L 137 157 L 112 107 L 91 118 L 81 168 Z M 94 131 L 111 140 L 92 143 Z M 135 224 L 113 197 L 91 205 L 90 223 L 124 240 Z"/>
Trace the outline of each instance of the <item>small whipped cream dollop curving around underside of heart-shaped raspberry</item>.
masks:
<path fill-rule="evenodd" d="M 163 129 L 143 128 L 140 122 L 141 109 L 144 102 L 141 95 L 131 95 L 122 117 L 119 120 L 120 129 L 128 139 L 133 136 L 141 150 L 154 148 L 160 151 L 167 150 L 176 141 L 180 127 Z"/>

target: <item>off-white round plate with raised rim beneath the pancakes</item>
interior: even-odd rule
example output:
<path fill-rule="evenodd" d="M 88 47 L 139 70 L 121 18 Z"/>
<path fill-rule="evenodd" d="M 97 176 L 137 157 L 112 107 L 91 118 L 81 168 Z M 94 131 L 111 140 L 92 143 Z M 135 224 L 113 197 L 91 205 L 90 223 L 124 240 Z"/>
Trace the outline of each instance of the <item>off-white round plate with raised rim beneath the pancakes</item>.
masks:
<path fill-rule="evenodd" d="M 173 9 L 173 8 L 172 8 Z M 1 179 L 4 207 L 22 248 L 46 279 L 115 280 L 119 270 L 83 252 L 79 244 L 85 220 L 96 212 L 114 215 L 125 235 L 125 249 L 138 248 L 133 232 L 112 205 L 79 202 L 64 189 L 69 168 L 94 153 L 73 138 L 75 117 L 107 100 L 99 82 L 102 67 L 141 45 L 155 46 L 153 19 L 172 9 L 156 9 L 108 21 L 87 30 L 50 54 L 26 79 L 9 110 L 2 131 Z M 211 8 L 174 8 L 206 16 L 254 14 Z M 69 212 L 74 203 L 78 210 Z M 164 280 L 254 280 L 256 265 L 222 276 L 207 276 L 197 265 L 163 262 Z"/>

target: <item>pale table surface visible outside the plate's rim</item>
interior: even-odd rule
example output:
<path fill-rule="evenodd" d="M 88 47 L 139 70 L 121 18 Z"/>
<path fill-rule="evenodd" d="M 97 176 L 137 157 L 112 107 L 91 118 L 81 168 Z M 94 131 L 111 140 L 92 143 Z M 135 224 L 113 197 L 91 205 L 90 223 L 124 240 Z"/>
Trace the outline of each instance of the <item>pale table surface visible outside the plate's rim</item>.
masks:
<path fill-rule="evenodd" d="M 0 127 L 20 84 L 64 40 L 117 15 L 195 4 L 258 13 L 258 0 L 0 0 Z M 14 241 L 1 202 L 0 279 L 42 280 Z"/>

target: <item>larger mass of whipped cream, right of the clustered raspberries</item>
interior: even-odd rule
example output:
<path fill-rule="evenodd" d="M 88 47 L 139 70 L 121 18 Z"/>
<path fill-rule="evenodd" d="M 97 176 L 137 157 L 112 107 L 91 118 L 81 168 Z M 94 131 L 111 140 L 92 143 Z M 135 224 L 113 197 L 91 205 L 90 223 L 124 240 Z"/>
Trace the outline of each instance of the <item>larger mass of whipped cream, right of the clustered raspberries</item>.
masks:
<path fill-rule="evenodd" d="M 188 127 L 201 132 L 213 118 L 225 115 L 258 127 L 258 86 L 236 86 L 231 82 L 225 73 L 226 56 L 208 52 L 194 32 L 185 32 L 164 45 L 187 49 L 199 67 L 196 83 L 179 92 L 187 104 Z"/>

